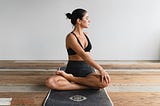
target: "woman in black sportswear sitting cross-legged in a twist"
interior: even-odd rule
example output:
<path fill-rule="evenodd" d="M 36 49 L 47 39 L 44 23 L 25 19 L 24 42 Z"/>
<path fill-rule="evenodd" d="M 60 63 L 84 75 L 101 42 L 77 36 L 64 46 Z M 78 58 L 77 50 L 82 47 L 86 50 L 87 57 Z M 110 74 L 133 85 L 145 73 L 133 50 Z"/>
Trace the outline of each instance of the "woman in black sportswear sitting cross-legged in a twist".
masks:
<path fill-rule="evenodd" d="M 66 37 L 68 64 L 65 71 L 59 70 L 56 75 L 49 77 L 46 85 L 56 90 L 101 89 L 108 86 L 108 73 L 89 54 L 92 46 L 87 34 L 83 32 L 90 23 L 87 11 L 76 9 L 66 16 L 74 26 Z"/>

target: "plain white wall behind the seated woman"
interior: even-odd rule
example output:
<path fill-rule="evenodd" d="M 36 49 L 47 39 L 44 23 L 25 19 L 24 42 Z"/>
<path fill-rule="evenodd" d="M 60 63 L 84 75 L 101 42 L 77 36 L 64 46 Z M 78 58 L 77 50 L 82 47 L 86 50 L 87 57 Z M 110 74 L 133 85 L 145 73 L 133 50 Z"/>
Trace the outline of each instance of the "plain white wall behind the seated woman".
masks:
<path fill-rule="evenodd" d="M 160 60 L 160 0 L 0 0 L 0 59 L 67 59 L 65 13 L 88 10 L 97 60 Z"/>

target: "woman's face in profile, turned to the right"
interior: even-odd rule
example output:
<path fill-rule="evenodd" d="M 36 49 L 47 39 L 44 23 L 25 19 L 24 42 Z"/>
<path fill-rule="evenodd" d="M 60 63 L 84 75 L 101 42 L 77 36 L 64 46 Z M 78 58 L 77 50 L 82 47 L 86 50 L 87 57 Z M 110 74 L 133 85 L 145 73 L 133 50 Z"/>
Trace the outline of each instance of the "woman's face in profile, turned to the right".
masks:
<path fill-rule="evenodd" d="M 90 23 L 88 13 L 85 13 L 85 15 L 83 16 L 82 20 L 80 20 L 80 21 L 81 21 L 81 23 L 80 23 L 81 27 L 88 28 L 89 27 L 89 23 Z"/>

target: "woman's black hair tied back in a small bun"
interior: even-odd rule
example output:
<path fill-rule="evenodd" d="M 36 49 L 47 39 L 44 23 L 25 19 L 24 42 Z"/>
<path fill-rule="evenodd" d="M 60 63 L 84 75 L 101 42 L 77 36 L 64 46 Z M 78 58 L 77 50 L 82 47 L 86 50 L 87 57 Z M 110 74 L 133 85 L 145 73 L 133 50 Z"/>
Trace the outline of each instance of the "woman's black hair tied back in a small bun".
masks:
<path fill-rule="evenodd" d="M 71 13 L 66 13 L 66 16 L 68 19 L 71 19 L 71 23 L 75 26 L 77 19 L 82 20 L 83 16 L 87 13 L 86 10 L 84 9 L 75 9 L 72 14 Z"/>

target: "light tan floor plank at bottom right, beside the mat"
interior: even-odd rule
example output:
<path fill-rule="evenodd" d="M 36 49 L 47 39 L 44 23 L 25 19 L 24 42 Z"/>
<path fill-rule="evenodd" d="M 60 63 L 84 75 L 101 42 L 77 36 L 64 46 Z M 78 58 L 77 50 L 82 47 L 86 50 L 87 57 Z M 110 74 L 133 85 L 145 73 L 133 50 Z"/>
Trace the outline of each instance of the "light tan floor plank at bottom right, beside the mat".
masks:
<path fill-rule="evenodd" d="M 160 106 L 160 92 L 109 92 L 114 106 Z"/>

